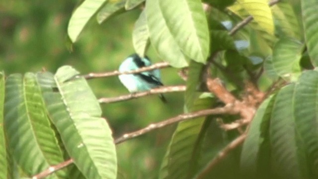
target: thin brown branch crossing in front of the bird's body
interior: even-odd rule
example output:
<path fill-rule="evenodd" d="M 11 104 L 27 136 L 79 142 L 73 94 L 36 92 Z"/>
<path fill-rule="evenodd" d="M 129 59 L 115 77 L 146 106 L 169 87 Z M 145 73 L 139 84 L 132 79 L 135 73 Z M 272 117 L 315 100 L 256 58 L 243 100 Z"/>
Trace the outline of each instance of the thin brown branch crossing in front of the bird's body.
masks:
<path fill-rule="evenodd" d="M 118 75 L 124 75 L 124 74 L 136 74 L 141 72 L 147 72 L 155 69 L 161 69 L 161 68 L 167 68 L 170 67 L 170 65 L 167 62 L 159 62 L 156 64 L 153 64 L 151 66 L 143 67 L 137 70 L 127 71 L 127 72 L 119 72 L 118 70 L 112 71 L 112 72 L 105 72 L 105 73 L 89 73 L 87 75 L 82 76 L 76 76 L 75 78 L 84 77 L 85 79 L 92 79 L 92 78 L 103 78 L 103 77 L 111 77 L 111 76 L 118 76 Z"/>

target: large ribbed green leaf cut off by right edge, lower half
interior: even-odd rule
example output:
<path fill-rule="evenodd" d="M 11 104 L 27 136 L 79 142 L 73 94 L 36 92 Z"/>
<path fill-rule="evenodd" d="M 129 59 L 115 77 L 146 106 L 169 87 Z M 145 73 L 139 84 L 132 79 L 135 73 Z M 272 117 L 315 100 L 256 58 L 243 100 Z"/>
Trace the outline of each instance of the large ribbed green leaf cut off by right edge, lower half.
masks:
<path fill-rule="evenodd" d="M 300 77 L 295 92 L 295 124 L 307 150 L 312 178 L 318 178 L 318 72 L 306 71 Z"/>

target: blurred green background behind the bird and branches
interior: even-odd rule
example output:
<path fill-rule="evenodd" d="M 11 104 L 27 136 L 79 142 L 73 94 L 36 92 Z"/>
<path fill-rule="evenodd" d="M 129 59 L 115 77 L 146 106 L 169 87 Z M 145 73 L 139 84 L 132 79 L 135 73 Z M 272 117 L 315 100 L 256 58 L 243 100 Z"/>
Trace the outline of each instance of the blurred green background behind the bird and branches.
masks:
<path fill-rule="evenodd" d="M 84 29 L 72 50 L 67 25 L 77 0 L 0 1 L 0 70 L 12 73 L 38 72 L 42 68 L 55 73 L 63 65 L 72 65 L 81 74 L 116 70 L 122 60 L 134 53 L 132 29 L 140 9 L 110 18 L 102 25 L 95 19 Z M 160 59 L 150 48 L 153 62 Z M 161 70 L 165 85 L 184 82 L 176 69 Z M 127 94 L 117 77 L 89 80 L 97 98 Z M 183 93 L 102 104 L 114 137 L 183 112 Z M 161 160 L 175 126 L 151 132 L 117 145 L 119 179 L 157 178 Z"/>

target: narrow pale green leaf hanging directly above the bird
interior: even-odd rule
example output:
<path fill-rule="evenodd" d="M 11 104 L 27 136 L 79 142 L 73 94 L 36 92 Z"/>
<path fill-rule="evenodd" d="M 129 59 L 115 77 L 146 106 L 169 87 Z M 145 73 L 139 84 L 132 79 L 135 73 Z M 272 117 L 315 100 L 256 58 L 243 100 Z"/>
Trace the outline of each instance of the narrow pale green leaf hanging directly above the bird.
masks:
<path fill-rule="evenodd" d="M 146 12 L 143 10 L 137 19 L 133 30 L 133 45 L 140 57 L 144 57 L 149 44 L 149 31 Z"/>

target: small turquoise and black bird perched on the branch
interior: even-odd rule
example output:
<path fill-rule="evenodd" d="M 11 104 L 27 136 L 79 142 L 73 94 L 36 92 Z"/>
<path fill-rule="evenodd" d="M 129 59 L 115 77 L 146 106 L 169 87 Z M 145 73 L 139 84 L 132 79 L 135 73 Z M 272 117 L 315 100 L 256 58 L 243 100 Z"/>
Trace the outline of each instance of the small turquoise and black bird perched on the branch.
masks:
<path fill-rule="evenodd" d="M 142 67 L 148 67 L 152 65 L 150 59 L 145 57 L 140 57 L 138 54 L 132 54 L 127 57 L 119 66 L 119 72 L 127 72 L 131 70 L 137 70 Z M 160 71 L 159 69 L 154 69 L 152 71 L 141 72 L 137 74 L 123 74 L 119 75 L 120 82 L 129 90 L 129 92 L 146 91 L 153 88 L 158 88 L 163 86 L 160 81 Z M 160 99 L 166 102 L 163 94 L 159 94 Z"/>

